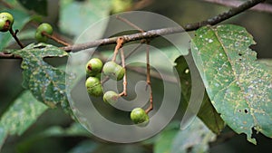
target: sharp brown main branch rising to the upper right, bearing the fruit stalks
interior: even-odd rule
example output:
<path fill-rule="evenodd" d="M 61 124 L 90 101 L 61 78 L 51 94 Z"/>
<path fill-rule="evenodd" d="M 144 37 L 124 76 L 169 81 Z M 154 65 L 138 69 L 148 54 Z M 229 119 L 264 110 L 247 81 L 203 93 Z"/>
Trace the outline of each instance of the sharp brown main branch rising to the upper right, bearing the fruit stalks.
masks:
<path fill-rule="evenodd" d="M 101 40 L 96 40 L 90 43 L 80 43 L 80 44 L 74 44 L 72 46 L 66 46 L 62 47 L 62 49 L 66 52 L 79 52 L 81 50 L 85 50 L 88 48 L 96 47 L 98 45 L 106 45 L 106 44 L 112 44 L 116 43 L 117 39 L 122 37 L 124 39 L 125 43 L 133 42 L 133 41 L 138 41 L 141 39 L 150 39 L 150 38 L 155 38 L 160 35 L 166 35 L 166 34 L 171 34 L 171 33 L 183 33 L 183 32 L 189 32 L 189 31 L 194 31 L 199 29 L 202 26 L 205 25 L 215 25 L 219 24 L 225 20 L 227 20 L 230 17 L 233 17 L 237 14 L 240 14 L 249 8 L 264 2 L 265 0 L 249 0 L 242 5 L 239 5 L 238 7 L 231 8 L 227 12 L 224 12 L 222 14 L 216 15 L 212 18 L 209 18 L 208 20 L 199 22 L 199 23 L 193 23 L 193 24 L 186 24 L 184 26 L 184 29 L 180 27 L 170 27 L 170 28 L 163 28 L 163 29 L 157 29 L 157 30 L 151 30 L 147 31 L 145 33 L 133 33 L 129 35 L 122 35 L 118 37 L 112 37 L 112 38 L 105 38 Z"/>

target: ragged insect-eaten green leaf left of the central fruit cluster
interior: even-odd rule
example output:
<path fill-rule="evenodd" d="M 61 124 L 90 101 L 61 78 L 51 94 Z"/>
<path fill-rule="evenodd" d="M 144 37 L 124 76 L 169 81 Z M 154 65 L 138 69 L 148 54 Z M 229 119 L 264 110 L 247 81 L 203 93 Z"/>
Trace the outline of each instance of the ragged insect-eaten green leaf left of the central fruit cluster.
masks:
<path fill-rule="evenodd" d="M 29 89 L 37 100 L 43 101 L 49 107 L 56 104 L 67 105 L 65 95 L 65 72 L 54 68 L 44 57 L 67 56 L 63 50 L 50 44 L 30 44 L 22 50 L 12 53 L 23 58 L 24 88 Z"/>

